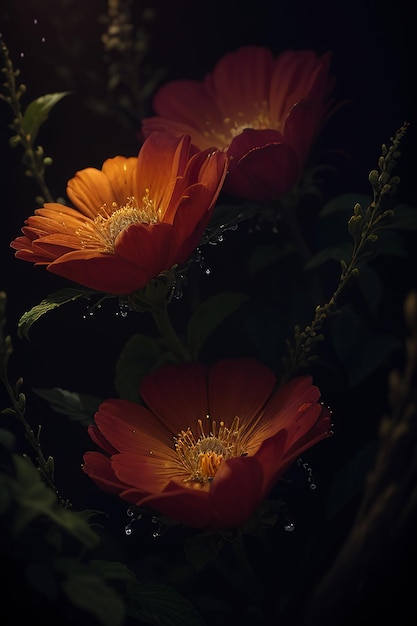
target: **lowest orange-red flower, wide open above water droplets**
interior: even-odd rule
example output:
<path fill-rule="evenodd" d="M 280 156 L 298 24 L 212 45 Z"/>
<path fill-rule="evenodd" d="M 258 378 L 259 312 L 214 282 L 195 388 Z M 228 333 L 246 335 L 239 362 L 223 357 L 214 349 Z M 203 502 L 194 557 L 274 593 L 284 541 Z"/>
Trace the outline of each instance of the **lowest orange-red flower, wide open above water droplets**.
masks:
<path fill-rule="evenodd" d="M 166 365 L 140 388 L 146 406 L 107 400 L 89 427 L 101 452 L 84 471 L 103 490 L 196 528 L 234 528 L 307 448 L 330 432 L 310 376 L 276 390 L 252 359 Z"/>

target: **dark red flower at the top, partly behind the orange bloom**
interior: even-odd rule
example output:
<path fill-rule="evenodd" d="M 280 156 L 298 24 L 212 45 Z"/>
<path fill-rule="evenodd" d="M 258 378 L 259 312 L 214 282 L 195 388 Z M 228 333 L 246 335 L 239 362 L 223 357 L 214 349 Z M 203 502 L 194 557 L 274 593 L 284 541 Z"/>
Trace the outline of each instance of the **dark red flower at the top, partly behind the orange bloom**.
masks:
<path fill-rule="evenodd" d="M 153 101 L 154 130 L 189 133 L 201 150 L 216 146 L 231 158 L 223 189 L 251 201 L 277 199 L 298 181 L 330 108 L 330 54 L 263 47 L 226 54 L 202 82 L 163 85 Z"/>

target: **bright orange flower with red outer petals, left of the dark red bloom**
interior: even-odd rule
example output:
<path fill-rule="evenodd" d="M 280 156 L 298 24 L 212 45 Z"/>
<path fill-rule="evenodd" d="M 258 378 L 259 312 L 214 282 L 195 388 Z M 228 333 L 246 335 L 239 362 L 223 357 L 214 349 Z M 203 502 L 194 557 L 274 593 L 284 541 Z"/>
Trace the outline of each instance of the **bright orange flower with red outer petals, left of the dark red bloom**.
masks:
<path fill-rule="evenodd" d="M 227 157 L 189 136 L 153 133 L 137 157 L 107 159 L 68 182 L 75 208 L 46 203 L 11 247 L 80 285 L 113 294 L 144 287 L 197 247 L 226 174 Z"/>

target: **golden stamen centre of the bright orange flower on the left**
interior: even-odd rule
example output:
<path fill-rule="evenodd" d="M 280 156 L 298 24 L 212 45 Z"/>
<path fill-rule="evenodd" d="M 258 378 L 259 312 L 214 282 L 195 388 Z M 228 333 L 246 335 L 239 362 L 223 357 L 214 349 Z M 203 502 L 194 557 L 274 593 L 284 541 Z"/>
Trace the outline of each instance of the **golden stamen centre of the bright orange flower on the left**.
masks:
<path fill-rule="evenodd" d="M 125 228 L 138 223 L 156 224 L 160 216 L 161 208 L 155 207 L 154 201 L 149 198 L 149 189 L 146 189 L 140 204 L 135 196 L 129 196 L 123 206 L 116 202 L 112 202 L 110 207 L 103 204 L 97 217 L 86 220 L 76 234 L 83 248 L 113 253 L 117 236 Z"/>

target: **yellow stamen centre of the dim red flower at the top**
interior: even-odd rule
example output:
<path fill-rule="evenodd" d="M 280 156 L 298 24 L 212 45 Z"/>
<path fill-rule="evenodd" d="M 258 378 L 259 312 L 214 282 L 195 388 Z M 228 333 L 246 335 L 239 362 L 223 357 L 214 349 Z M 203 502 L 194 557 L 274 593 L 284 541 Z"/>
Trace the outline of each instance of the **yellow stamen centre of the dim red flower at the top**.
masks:
<path fill-rule="evenodd" d="M 253 130 L 265 130 L 271 128 L 279 130 L 281 124 L 279 120 L 272 121 L 269 115 L 268 103 L 264 100 L 261 104 L 255 104 L 257 112 L 248 120 L 247 113 L 237 111 L 234 117 L 225 117 L 223 119 L 223 128 L 213 127 L 209 121 L 206 121 L 206 130 L 204 135 L 207 138 L 214 138 L 216 145 L 220 148 L 227 148 L 237 135 L 240 135 L 245 128 Z"/>

